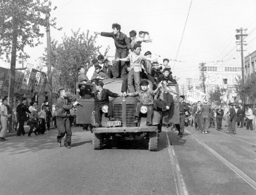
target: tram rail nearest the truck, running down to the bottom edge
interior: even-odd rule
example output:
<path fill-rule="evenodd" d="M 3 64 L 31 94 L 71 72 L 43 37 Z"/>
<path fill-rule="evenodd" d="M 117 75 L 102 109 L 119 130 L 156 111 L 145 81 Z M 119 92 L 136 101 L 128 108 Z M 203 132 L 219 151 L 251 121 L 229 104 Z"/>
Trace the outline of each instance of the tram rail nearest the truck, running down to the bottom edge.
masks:
<path fill-rule="evenodd" d="M 174 152 L 174 148 L 170 143 L 169 136 L 168 136 L 168 131 L 166 127 L 164 127 L 164 132 L 166 134 L 166 141 L 167 141 L 167 146 L 168 146 L 168 152 L 172 164 L 172 170 L 174 173 L 174 180 L 176 183 L 176 191 L 178 195 L 188 195 L 187 187 L 184 182 L 183 176 L 181 174 L 181 169 L 177 160 L 177 157 Z"/>

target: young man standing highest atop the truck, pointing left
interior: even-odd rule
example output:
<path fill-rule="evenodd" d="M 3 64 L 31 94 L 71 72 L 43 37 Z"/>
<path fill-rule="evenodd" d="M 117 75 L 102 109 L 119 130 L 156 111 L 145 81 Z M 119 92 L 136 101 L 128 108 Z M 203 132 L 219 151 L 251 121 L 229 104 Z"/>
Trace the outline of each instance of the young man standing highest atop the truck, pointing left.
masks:
<path fill-rule="evenodd" d="M 105 37 L 111 37 L 114 39 L 115 41 L 115 59 L 116 58 L 126 58 L 128 55 L 128 51 L 129 53 L 131 53 L 131 44 L 130 41 L 128 39 L 128 37 L 120 32 L 121 30 L 121 25 L 114 23 L 112 24 L 112 29 L 113 32 L 94 32 L 95 35 L 102 35 Z M 114 77 L 118 78 L 119 77 L 119 67 L 118 67 L 118 61 L 115 61 L 113 64 L 113 70 L 114 70 Z M 121 62 L 121 77 L 124 78 L 126 73 L 126 69 L 125 69 L 125 61 Z"/>

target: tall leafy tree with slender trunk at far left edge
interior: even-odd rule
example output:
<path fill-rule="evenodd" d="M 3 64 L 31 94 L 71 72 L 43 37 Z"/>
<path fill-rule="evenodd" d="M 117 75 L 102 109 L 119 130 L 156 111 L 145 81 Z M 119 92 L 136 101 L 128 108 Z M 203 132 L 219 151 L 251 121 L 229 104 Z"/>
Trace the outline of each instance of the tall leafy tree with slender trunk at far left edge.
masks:
<path fill-rule="evenodd" d="M 16 52 L 24 59 L 29 55 L 24 47 L 35 47 L 42 44 L 39 38 L 44 33 L 40 26 L 46 27 L 45 14 L 50 9 L 49 0 L 1 0 L 0 1 L 0 57 L 10 58 L 11 54 L 11 80 L 10 80 L 10 109 L 13 108 L 14 78 L 16 68 Z M 56 9 L 56 7 L 54 8 Z M 55 27 L 55 18 L 50 22 Z"/>

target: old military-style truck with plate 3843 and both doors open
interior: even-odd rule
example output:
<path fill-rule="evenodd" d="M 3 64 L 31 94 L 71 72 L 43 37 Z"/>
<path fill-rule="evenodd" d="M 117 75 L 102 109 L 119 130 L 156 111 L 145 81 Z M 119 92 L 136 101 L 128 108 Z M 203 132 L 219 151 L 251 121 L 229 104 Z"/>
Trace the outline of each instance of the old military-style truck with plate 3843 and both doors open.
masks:
<path fill-rule="evenodd" d="M 153 84 L 149 82 L 148 89 L 153 89 Z M 103 88 L 112 91 L 113 93 L 120 93 L 122 80 L 121 79 L 107 79 L 103 80 Z M 148 149 L 150 151 L 158 150 L 158 137 L 161 132 L 162 125 L 179 124 L 179 97 L 174 96 L 174 103 L 171 108 L 163 113 L 154 111 L 152 126 L 146 125 L 147 108 L 141 107 L 140 121 L 136 126 L 135 109 L 139 102 L 136 97 L 117 97 L 110 98 L 113 106 L 113 119 L 109 121 L 107 116 L 108 105 L 102 106 L 102 127 L 95 128 L 94 118 L 94 91 L 95 86 L 91 83 L 76 83 L 76 87 L 85 89 L 85 94 L 81 92 L 76 93 L 76 99 L 79 102 L 77 106 L 77 124 L 90 124 L 92 132 L 92 143 L 95 150 L 103 149 L 104 144 L 110 140 L 148 140 Z M 178 85 L 171 84 L 168 86 L 171 90 L 178 93 Z M 155 95 L 155 99 L 158 94 Z"/>

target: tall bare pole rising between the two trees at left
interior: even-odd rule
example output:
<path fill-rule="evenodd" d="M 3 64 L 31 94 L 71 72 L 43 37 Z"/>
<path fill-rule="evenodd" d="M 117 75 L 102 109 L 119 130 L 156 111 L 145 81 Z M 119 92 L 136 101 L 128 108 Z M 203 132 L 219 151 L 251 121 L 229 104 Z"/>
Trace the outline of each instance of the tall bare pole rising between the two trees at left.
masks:
<path fill-rule="evenodd" d="M 53 112 L 52 92 L 52 64 L 51 64 L 51 37 L 50 37 L 50 13 L 46 13 L 46 37 L 47 37 L 47 76 L 48 76 L 48 104 L 50 112 Z M 52 125 L 52 124 L 51 124 Z"/>

